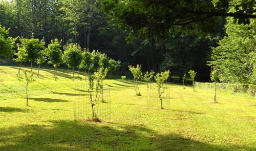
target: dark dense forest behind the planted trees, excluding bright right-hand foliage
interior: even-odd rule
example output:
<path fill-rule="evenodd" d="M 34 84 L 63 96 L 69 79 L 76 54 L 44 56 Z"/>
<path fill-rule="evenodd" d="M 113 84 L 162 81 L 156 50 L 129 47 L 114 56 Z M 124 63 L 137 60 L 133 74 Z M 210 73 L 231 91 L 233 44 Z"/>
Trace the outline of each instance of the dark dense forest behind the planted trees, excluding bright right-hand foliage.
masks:
<path fill-rule="evenodd" d="M 209 47 L 214 42 L 205 37 L 199 38 L 194 34 L 159 40 L 138 36 L 127 44 L 127 32 L 121 31 L 115 25 L 116 21 L 109 20 L 101 11 L 100 1 L 9 2 L 0 3 L 0 24 L 10 28 L 9 35 L 12 37 L 30 38 L 33 33 L 35 38 L 44 37 L 46 45 L 50 44 L 51 39 L 57 38 L 62 40 L 61 45 L 74 42 L 82 50 L 100 50 L 120 60 L 122 71 L 127 70 L 128 64 L 142 64 L 143 70 L 147 71 L 170 69 L 177 71 L 178 75 L 197 68 L 200 73 L 198 80 L 209 79 L 210 68 L 206 66 L 206 61 L 210 54 Z M 169 62 L 168 66 L 166 61 Z"/>

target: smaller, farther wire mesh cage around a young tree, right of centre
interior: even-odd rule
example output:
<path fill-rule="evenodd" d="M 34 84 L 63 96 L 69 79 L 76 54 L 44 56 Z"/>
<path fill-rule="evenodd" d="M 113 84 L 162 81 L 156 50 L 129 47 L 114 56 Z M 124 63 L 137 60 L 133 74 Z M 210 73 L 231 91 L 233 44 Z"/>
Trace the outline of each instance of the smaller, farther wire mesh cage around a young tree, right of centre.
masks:
<path fill-rule="evenodd" d="M 162 88 L 158 88 L 154 82 L 147 83 L 147 107 L 148 109 L 170 109 L 170 84 L 163 83 Z"/>

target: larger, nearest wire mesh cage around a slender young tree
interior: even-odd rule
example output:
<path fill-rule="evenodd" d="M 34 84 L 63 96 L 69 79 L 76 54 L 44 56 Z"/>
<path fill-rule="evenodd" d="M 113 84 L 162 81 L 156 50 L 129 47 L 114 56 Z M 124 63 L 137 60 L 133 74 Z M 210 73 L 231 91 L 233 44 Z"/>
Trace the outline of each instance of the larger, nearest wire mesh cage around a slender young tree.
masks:
<path fill-rule="evenodd" d="M 102 90 L 100 90 L 102 91 Z M 94 105 L 94 117 L 100 119 L 111 118 L 111 97 L 110 88 L 106 85 L 103 86 L 102 92 L 96 93 L 94 89 L 91 96 L 99 98 L 98 102 Z M 102 100 L 103 99 L 103 100 Z M 90 94 L 88 84 L 77 83 L 75 84 L 75 101 L 74 101 L 74 120 L 81 121 L 84 119 L 91 119 L 92 105 L 90 102 Z"/>

